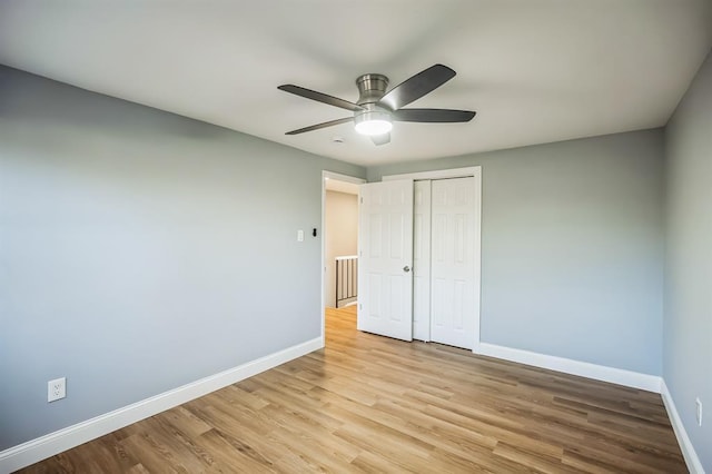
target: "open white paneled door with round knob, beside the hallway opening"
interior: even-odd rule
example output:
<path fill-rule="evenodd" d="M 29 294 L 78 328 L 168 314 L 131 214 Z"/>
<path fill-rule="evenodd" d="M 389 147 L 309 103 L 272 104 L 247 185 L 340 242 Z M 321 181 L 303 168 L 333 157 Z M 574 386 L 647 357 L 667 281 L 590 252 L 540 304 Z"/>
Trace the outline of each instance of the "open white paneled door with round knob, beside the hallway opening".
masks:
<path fill-rule="evenodd" d="M 413 180 L 359 187 L 359 330 L 413 339 Z"/>

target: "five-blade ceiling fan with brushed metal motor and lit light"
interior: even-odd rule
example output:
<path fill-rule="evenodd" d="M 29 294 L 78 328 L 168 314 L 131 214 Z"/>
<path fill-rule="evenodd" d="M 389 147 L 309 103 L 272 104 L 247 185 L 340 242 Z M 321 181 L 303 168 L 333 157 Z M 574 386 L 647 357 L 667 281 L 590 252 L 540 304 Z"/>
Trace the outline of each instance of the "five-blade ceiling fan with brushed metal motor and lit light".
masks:
<path fill-rule="evenodd" d="M 403 107 L 437 89 L 455 77 L 455 71 L 443 65 L 432 66 L 406 79 L 386 92 L 388 78 L 383 75 L 363 75 L 356 78 L 358 101 L 356 103 L 316 90 L 305 89 L 290 83 L 278 89 L 296 96 L 328 103 L 329 106 L 354 112 L 353 117 L 325 121 L 323 124 L 287 131 L 286 135 L 304 134 L 335 125 L 354 121 L 356 131 L 370 136 L 376 145 L 390 141 L 393 121 L 413 121 L 426 124 L 465 122 L 472 120 L 475 112 L 451 109 L 404 109 Z"/>

